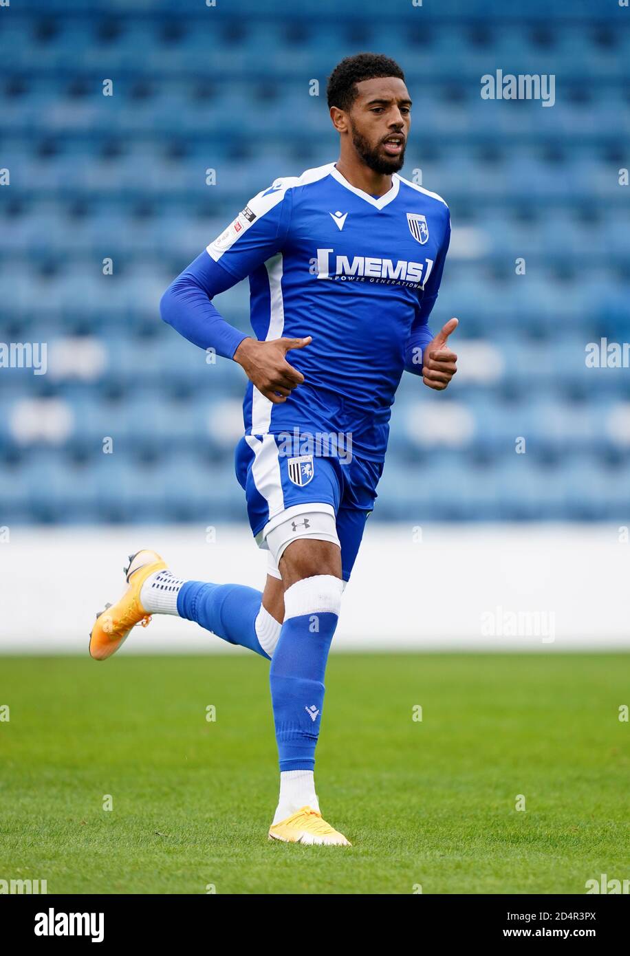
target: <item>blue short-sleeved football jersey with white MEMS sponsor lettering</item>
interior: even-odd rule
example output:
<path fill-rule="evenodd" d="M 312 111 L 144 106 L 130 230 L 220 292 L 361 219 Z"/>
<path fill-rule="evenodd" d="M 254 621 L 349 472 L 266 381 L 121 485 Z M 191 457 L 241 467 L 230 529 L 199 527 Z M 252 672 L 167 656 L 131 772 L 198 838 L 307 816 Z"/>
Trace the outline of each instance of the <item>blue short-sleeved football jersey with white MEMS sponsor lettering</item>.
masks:
<path fill-rule="evenodd" d="M 355 452 L 380 460 L 405 345 L 426 327 L 449 238 L 444 200 L 398 174 L 375 198 L 328 163 L 254 196 L 207 252 L 249 276 L 258 339 L 313 341 L 287 354 L 305 378 L 287 402 L 249 383 L 246 432 L 352 429 Z"/>

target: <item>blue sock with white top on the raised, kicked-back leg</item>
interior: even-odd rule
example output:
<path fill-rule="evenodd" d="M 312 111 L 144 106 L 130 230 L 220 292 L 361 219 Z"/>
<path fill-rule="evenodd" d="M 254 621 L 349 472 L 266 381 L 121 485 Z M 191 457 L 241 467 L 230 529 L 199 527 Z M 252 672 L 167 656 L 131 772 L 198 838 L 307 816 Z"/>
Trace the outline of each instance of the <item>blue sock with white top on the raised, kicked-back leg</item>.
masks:
<path fill-rule="evenodd" d="M 242 584 L 186 581 L 177 597 L 177 613 L 270 661 L 280 625 L 262 607 L 262 597 Z"/>

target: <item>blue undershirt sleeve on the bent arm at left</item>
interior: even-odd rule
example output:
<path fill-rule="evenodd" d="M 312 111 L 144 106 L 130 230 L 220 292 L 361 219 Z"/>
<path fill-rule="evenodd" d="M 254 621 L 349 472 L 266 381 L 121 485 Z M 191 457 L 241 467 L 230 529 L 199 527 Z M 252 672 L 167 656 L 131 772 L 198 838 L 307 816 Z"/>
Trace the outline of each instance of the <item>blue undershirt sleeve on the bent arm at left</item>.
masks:
<path fill-rule="evenodd" d="M 160 314 L 189 342 L 232 359 L 248 333 L 230 325 L 210 300 L 238 281 L 204 251 L 171 282 L 160 301 Z"/>

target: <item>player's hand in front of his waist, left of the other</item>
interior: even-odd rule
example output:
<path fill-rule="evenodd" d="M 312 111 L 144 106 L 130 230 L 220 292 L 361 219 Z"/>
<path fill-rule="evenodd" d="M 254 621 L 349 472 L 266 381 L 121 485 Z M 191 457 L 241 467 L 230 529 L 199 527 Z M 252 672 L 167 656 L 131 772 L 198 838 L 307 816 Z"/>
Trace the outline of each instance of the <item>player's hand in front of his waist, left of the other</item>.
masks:
<path fill-rule="evenodd" d="M 301 385 L 304 376 L 290 365 L 285 356 L 290 349 L 303 349 L 313 341 L 306 338 L 273 338 L 259 342 L 244 338 L 233 359 L 245 370 L 248 379 L 273 404 L 286 402 L 293 388 Z"/>

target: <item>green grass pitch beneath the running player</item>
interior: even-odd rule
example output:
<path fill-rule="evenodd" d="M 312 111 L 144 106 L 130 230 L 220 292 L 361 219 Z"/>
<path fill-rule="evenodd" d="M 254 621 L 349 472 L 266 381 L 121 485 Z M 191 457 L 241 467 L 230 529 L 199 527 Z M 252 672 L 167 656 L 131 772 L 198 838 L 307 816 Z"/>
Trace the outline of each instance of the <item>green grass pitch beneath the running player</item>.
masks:
<path fill-rule="evenodd" d="M 628 877 L 629 663 L 332 656 L 316 780 L 350 849 L 267 839 L 265 661 L 0 659 L 0 878 L 49 893 L 583 894 Z"/>

